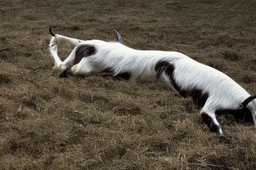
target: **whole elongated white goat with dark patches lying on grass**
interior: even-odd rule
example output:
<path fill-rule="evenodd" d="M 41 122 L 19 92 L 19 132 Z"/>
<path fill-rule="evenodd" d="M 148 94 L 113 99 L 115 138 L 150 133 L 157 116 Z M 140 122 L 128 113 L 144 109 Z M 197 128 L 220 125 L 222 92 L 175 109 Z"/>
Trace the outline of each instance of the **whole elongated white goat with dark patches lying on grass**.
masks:
<path fill-rule="evenodd" d="M 126 79 L 149 78 L 166 82 L 177 94 L 192 97 L 202 106 L 200 114 L 210 131 L 223 134 L 215 114 L 230 113 L 250 119 L 256 127 L 256 95 L 250 96 L 239 84 L 224 73 L 201 64 L 179 52 L 135 50 L 118 42 L 82 41 L 62 35 L 53 36 L 50 51 L 55 69 L 61 76 L 97 73 Z M 75 48 L 61 61 L 57 43 L 67 42 Z"/>

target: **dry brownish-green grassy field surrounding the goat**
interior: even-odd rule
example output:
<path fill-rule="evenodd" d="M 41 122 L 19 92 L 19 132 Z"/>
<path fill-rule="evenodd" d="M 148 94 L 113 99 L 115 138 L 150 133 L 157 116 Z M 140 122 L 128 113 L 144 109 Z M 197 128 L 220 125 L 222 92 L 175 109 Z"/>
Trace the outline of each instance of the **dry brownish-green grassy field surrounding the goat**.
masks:
<path fill-rule="evenodd" d="M 256 93 L 256 1 L 0 0 L 0 169 L 256 169 L 256 128 L 219 116 L 209 132 L 192 99 L 166 84 L 59 78 L 49 26 L 81 40 L 178 51 Z M 65 59 L 72 48 L 60 44 Z"/>

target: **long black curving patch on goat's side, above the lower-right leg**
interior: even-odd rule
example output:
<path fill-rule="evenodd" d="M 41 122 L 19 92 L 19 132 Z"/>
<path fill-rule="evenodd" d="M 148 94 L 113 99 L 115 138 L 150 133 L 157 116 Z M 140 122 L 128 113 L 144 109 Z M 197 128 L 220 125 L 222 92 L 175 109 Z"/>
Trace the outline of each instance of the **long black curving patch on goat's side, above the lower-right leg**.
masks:
<path fill-rule="evenodd" d="M 168 75 L 169 80 L 172 86 L 180 93 L 180 95 L 184 98 L 191 97 L 194 103 L 200 108 L 203 107 L 209 95 L 207 93 L 203 93 L 200 89 L 192 89 L 192 90 L 181 90 L 177 85 L 174 79 L 174 65 L 170 64 L 168 61 L 159 61 L 155 66 L 156 76 L 157 78 L 165 72 Z"/>

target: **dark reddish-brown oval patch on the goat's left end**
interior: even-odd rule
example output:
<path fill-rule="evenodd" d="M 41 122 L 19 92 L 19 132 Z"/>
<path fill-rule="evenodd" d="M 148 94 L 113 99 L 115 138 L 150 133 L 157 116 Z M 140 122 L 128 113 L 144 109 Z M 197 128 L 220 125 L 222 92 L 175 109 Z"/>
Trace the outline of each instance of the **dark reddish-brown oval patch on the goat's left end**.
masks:
<path fill-rule="evenodd" d="M 76 49 L 75 59 L 72 62 L 72 65 L 78 64 L 83 57 L 89 57 L 96 53 L 96 49 L 91 45 L 80 45 Z"/>

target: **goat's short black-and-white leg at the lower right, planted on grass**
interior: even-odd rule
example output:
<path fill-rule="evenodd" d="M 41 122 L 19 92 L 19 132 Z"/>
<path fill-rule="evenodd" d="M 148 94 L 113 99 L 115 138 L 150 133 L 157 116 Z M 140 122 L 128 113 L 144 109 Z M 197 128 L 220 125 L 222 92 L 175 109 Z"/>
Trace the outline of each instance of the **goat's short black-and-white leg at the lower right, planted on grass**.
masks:
<path fill-rule="evenodd" d="M 218 135 L 222 135 L 223 131 L 220 127 L 219 122 L 216 119 L 215 111 L 213 109 L 209 109 L 206 105 L 200 111 L 200 115 L 202 116 L 205 124 L 210 128 L 211 132 L 214 132 Z"/>

